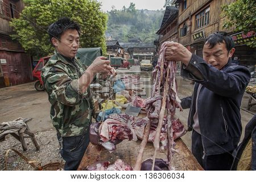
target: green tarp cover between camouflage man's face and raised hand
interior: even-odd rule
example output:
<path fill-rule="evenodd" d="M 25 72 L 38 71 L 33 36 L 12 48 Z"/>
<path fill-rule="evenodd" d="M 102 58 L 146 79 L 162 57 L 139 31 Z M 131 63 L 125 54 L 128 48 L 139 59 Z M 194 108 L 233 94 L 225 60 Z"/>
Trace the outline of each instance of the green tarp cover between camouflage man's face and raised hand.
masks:
<path fill-rule="evenodd" d="M 79 48 L 76 56 L 80 58 L 82 63 L 89 67 L 96 57 L 102 56 L 102 50 L 100 47 Z"/>

